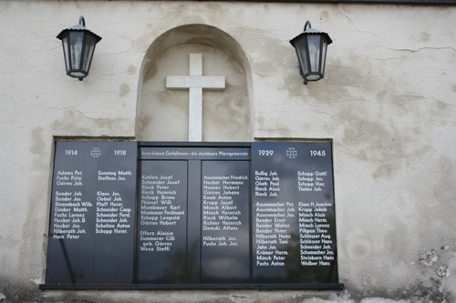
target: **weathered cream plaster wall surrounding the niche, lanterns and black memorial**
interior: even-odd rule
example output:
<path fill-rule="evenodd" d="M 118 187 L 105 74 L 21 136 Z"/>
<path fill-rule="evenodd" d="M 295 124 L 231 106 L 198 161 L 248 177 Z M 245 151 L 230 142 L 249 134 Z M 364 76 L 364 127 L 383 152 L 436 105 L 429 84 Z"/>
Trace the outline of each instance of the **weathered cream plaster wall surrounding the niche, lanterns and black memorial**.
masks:
<path fill-rule="evenodd" d="M 79 15 L 103 37 L 82 82 L 65 75 L 55 37 Z M 334 44 L 325 79 L 303 86 L 288 40 L 307 19 Z M 195 24 L 219 28 L 238 43 L 228 47 L 245 54 L 233 60 L 247 66 L 252 139 L 333 139 L 339 277 L 347 290 L 37 290 L 54 137 L 138 138 L 150 45 Z M 454 302 L 456 8 L 2 1 L 0 25 L 0 293 L 8 301 Z"/>

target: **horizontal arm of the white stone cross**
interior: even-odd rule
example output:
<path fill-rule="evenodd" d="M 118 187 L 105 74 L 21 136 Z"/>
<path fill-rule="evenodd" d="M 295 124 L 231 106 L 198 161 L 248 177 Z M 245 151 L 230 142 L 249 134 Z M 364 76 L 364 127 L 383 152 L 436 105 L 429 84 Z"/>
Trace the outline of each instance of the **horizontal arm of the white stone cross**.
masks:
<path fill-rule="evenodd" d="M 166 88 L 188 89 L 203 88 L 211 90 L 225 89 L 224 76 L 167 76 Z"/>

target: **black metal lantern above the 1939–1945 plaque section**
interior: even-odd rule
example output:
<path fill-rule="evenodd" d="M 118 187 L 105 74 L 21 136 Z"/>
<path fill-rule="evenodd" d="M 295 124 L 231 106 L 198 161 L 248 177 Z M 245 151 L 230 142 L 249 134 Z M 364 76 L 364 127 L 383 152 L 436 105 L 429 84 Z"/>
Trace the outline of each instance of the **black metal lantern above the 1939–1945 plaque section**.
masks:
<path fill-rule="evenodd" d="M 307 28 L 308 25 L 308 28 Z M 318 81 L 325 74 L 326 47 L 333 41 L 324 32 L 312 28 L 307 21 L 304 26 L 304 33 L 295 36 L 290 43 L 295 47 L 299 61 L 299 71 L 307 81 Z"/>

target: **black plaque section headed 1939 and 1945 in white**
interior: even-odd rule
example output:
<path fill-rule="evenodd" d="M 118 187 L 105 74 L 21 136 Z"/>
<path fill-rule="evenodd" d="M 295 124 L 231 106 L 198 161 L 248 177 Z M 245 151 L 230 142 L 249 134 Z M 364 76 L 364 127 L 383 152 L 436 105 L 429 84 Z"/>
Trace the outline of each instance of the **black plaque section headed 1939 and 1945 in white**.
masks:
<path fill-rule="evenodd" d="M 252 144 L 254 283 L 337 283 L 330 143 Z"/>

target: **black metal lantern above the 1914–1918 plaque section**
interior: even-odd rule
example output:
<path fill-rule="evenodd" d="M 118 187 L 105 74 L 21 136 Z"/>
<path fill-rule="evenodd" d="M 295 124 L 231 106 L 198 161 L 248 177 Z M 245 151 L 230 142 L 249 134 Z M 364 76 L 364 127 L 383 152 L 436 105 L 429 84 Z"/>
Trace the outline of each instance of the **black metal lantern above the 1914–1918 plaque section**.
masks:
<path fill-rule="evenodd" d="M 78 25 L 64 29 L 57 38 L 62 40 L 67 75 L 82 81 L 85 76 L 88 76 L 95 45 L 101 37 L 86 28 L 86 21 L 81 15 Z"/>

